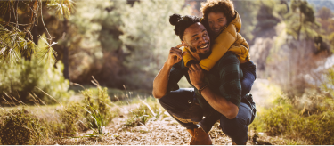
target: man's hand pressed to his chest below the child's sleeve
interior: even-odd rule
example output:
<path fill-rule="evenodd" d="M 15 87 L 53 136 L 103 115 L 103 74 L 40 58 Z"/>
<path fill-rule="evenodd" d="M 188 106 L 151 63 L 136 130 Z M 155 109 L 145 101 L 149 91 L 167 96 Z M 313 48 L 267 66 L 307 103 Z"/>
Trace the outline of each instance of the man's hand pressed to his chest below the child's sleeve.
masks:
<path fill-rule="evenodd" d="M 191 79 L 191 84 L 194 85 L 197 89 L 200 89 L 204 83 L 204 72 L 200 68 L 199 64 L 191 64 L 188 70 L 189 77 Z"/>

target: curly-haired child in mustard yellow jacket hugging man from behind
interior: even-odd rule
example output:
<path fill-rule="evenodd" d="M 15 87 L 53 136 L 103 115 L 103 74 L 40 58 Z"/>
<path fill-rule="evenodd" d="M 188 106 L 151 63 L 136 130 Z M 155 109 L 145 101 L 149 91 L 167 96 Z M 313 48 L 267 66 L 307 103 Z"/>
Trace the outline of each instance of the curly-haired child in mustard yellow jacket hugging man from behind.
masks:
<path fill-rule="evenodd" d="M 240 60 L 240 67 L 243 72 L 241 78 L 241 97 L 250 92 L 251 87 L 257 78 L 256 66 L 249 61 L 249 45 L 240 35 L 241 19 L 238 12 L 234 11 L 232 1 L 214 0 L 202 4 L 201 11 L 204 18 L 201 23 L 208 29 L 212 42 L 212 53 L 206 59 L 200 60 L 200 67 L 209 71 L 216 62 L 223 57 L 224 53 L 230 51 L 235 53 Z M 184 48 L 186 53 L 183 56 L 185 66 L 189 67 L 196 59 Z"/>

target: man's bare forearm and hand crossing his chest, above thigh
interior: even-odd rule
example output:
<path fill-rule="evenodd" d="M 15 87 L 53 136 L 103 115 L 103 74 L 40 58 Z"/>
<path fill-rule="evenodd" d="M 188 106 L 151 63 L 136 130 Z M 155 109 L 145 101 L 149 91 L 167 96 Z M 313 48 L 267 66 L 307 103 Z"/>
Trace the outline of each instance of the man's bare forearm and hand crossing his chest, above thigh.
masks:
<path fill-rule="evenodd" d="M 203 82 L 204 73 L 200 68 L 200 65 L 192 64 L 188 73 L 191 79 L 191 84 L 200 90 L 200 88 L 205 85 Z M 208 101 L 208 104 L 210 104 L 212 108 L 223 114 L 226 118 L 232 119 L 237 116 L 239 112 L 238 106 L 233 104 L 231 101 L 227 101 L 223 96 L 212 92 L 210 88 L 204 88 L 201 91 L 201 95 L 206 101 Z"/>

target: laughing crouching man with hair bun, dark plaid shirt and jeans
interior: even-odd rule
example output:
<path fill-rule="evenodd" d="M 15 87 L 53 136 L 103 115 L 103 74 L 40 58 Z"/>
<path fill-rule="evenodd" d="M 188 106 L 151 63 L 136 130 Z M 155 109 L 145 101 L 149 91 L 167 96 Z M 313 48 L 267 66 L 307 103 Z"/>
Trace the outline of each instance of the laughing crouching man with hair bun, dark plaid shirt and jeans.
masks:
<path fill-rule="evenodd" d="M 208 57 L 210 38 L 199 18 L 174 14 L 169 21 L 175 25 L 175 34 L 182 45 L 190 48 L 197 61 Z M 255 116 L 255 104 L 250 94 L 241 98 L 242 71 L 237 56 L 225 53 L 209 72 L 204 72 L 198 64 L 191 64 L 188 69 L 179 49 L 182 45 L 170 49 L 166 63 L 154 79 L 153 96 L 187 128 L 191 134 L 190 145 L 211 145 L 208 131 L 218 119 L 234 145 L 245 145 L 248 125 Z M 179 89 L 177 83 L 183 76 L 194 89 Z"/>

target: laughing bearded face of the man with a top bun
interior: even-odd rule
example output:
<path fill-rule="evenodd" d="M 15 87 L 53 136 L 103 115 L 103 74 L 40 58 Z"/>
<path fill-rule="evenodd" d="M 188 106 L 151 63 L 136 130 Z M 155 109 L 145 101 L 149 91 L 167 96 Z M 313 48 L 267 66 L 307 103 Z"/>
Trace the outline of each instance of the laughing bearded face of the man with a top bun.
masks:
<path fill-rule="evenodd" d="M 192 56 L 198 60 L 208 58 L 211 53 L 208 31 L 200 22 L 184 30 L 183 43 L 190 48 Z"/>

